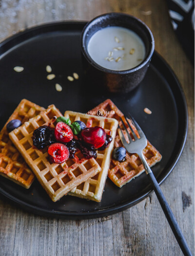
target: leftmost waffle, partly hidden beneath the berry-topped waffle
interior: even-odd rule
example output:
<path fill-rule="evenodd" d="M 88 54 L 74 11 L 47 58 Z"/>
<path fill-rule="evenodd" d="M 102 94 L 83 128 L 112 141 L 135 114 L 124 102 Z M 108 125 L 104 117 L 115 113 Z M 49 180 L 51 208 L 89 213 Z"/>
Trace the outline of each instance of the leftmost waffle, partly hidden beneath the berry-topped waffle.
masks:
<path fill-rule="evenodd" d="M 30 188 L 35 175 L 9 139 L 6 125 L 13 119 L 20 119 L 24 123 L 42 110 L 44 110 L 43 107 L 23 99 L 0 131 L 0 175 L 26 189 Z"/>

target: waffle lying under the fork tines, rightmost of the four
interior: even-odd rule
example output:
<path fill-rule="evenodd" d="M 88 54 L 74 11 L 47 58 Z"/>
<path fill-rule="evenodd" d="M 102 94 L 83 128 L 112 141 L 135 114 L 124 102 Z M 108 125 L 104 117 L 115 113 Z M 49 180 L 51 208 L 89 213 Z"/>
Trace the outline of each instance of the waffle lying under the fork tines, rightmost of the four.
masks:
<path fill-rule="evenodd" d="M 110 99 L 107 99 L 103 103 L 99 104 L 97 107 L 90 110 L 88 113 L 97 115 L 98 109 L 104 110 L 104 117 L 117 119 L 117 121 L 119 122 L 119 126 L 124 131 L 124 128 L 122 127 L 122 123 L 120 121 L 120 117 L 121 117 L 130 135 L 133 138 L 133 135 L 130 131 L 130 128 L 128 128 L 128 125 L 126 123 L 123 113 L 117 108 L 117 106 Z M 131 122 L 130 120 L 128 121 Z M 135 133 L 138 135 L 137 129 L 132 124 L 132 122 L 131 122 L 131 125 Z M 124 135 L 126 134 L 125 131 L 123 132 L 123 134 Z M 114 147 L 115 148 L 123 147 L 120 137 L 118 135 L 118 132 L 115 138 Z M 150 167 L 154 166 L 162 158 L 161 154 L 155 149 L 155 147 L 149 141 L 146 148 L 143 150 L 143 154 Z M 123 185 L 130 182 L 132 179 L 136 178 L 144 171 L 145 171 L 144 167 L 138 155 L 130 154 L 127 152 L 126 159 L 124 162 L 118 162 L 113 158 L 111 159 L 110 168 L 108 171 L 108 177 L 115 183 L 115 185 L 121 188 Z"/>

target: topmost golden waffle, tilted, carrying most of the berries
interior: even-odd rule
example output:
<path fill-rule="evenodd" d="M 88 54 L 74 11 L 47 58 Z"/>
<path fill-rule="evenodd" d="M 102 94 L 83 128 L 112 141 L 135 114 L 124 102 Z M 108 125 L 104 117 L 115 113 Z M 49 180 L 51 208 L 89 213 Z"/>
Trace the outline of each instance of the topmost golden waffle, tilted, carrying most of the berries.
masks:
<path fill-rule="evenodd" d="M 50 125 L 54 128 L 56 117 L 59 116 L 61 116 L 59 110 L 51 105 L 9 133 L 10 139 L 54 202 L 101 171 L 94 158 L 82 159 L 80 152 L 76 153 L 74 160 L 68 159 L 62 164 L 50 164 L 47 153 L 48 147 L 42 150 L 34 147 L 33 131 L 43 125 Z"/>

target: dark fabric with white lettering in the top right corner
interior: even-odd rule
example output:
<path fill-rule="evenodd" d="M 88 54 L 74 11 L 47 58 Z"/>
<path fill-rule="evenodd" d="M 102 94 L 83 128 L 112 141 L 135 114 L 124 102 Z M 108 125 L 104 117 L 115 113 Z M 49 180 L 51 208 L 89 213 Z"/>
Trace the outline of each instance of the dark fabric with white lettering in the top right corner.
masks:
<path fill-rule="evenodd" d="M 167 0 L 169 15 L 178 40 L 195 64 L 195 1 Z"/>

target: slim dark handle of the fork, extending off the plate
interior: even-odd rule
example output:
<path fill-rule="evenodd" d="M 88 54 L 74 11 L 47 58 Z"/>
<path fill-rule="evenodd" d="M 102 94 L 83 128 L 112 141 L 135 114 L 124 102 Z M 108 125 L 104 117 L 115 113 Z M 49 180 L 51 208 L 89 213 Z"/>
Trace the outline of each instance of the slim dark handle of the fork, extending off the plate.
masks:
<path fill-rule="evenodd" d="M 158 183 L 156 181 L 155 175 L 153 174 L 152 170 L 148 166 L 148 163 L 146 162 L 143 154 L 140 155 L 139 157 L 140 157 L 140 159 L 143 163 L 144 168 L 146 166 L 145 170 L 146 170 L 147 176 L 148 176 L 148 178 L 149 178 L 149 180 L 150 180 L 150 182 L 153 186 L 153 189 L 156 193 L 158 201 L 159 201 L 159 203 L 162 207 L 162 210 L 163 210 L 163 212 L 164 212 L 164 214 L 165 214 L 165 216 L 166 216 L 166 218 L 169 222 L 169 225 L 170 225 L 170 227 L 171 227 L 171 229 L 172 229 L 172 231 L 173 231 L 173 233 L 176 237 L 176 240 L 177 240 L 177 242 L 178 242 L 178 244 L 181 248 L 181 251 L 183 252 L 183 254 L 185 256 L 192 256 L 192 253 L 191 253 L 190 248 L 187 244 L 187 241 L 186 241 L 184 235 L 181 232 L 181 229 L 180 229 L 180 227 L 179 227 L 179 225 L 176 221 L 176 218 L 175 218 L 175 216 L 174 216 L 174 214 L 173 214 L 173 212 L 172 212 L 164 194 L 162 193 L 162 191 L 160 189 L 160 186 L 158 185 Z"/>

